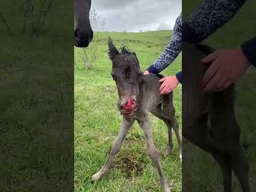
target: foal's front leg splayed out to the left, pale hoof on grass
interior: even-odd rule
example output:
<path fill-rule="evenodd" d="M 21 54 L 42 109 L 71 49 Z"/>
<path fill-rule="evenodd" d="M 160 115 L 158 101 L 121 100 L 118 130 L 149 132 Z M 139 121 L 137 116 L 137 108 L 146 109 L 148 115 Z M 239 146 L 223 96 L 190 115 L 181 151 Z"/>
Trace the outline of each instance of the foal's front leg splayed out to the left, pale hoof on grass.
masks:
<path fill-rule="evenodd" d="M 110 150 L 110 153 L 108 155 L 108 158 L 107 158 L 107 161 L 105 163 L 105 165 L 103 165 L 100 169 L 100 171 L 98 173 L 95 173 L 93 176 L 92 176 L 92 180 L 93 181 L 97 181 L 99 180 L 103 174 L 107 173 L 109 167 L 110 167 L 110 164 L 111 162 L 114 160 L 116 154 L 118 153 L 118 151 L 120 150 L 121 146 L 122 146 L 122 143 L 124 141 L 124 138 L 127 134 L 127 132 L 130 130 L 132 124 L 134 122 L 134 119 L 132 118 L 125 118 L 123 117 L 123 122 L 122 122 L 122 125 L 119 129 L 119 133 L 111 147 L 111 150 Z"/>

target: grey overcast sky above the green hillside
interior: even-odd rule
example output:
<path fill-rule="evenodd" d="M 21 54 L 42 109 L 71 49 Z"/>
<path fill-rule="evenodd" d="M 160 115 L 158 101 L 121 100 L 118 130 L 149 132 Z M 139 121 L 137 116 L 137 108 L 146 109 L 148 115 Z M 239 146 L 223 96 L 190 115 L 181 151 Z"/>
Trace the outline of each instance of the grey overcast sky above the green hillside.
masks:
<path fill-rule="evenodd" d="M 181 12 L 181 0 L 92 0 L 100 15 L 97 30 L 138 32 L 173 29 Z"/>

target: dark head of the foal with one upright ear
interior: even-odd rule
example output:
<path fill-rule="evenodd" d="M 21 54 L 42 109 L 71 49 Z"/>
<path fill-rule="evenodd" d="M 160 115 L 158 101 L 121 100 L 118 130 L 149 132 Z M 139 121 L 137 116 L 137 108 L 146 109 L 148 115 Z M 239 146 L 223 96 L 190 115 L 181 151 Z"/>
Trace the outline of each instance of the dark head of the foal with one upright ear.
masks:
<path fill-rule="evenodd" d="M 135 101 L 139 93 L 138 77 L 141 75 L 139 61 L 136 54 L 127 51 L 125 47 L 118 52 L 110 38 L 108 47 L 109 57 L 113 63 L 111 76 L 117 85 L 121 113 L 130 100 L 134 101 L 135 110 Z"/>

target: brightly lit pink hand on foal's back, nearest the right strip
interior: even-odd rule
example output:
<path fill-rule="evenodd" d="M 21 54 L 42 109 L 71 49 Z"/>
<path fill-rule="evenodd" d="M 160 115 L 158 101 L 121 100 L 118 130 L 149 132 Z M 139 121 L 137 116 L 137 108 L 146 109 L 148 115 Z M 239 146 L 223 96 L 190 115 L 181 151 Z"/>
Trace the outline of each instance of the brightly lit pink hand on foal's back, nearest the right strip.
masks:
<path fill-rule="evenodd" d="M 176 76 L 164 77 L 160 79 L 159 82 L 163 82 L 159 88 L 160 94 L 168 94 L 172 92 L 180 83 Z"/>

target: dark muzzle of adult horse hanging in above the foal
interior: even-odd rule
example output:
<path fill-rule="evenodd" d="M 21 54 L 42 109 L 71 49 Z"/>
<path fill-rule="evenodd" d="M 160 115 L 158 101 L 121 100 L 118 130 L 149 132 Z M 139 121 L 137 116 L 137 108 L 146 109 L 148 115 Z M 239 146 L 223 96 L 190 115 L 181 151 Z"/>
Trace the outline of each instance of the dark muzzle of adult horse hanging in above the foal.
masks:
<path fill-rule="evenodd" d="M 87 47 L 93 38 L 89 19 L 91 0 L 74 0 L 74 44 Z"/>

